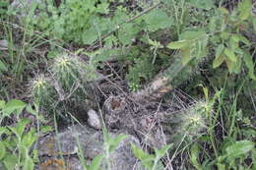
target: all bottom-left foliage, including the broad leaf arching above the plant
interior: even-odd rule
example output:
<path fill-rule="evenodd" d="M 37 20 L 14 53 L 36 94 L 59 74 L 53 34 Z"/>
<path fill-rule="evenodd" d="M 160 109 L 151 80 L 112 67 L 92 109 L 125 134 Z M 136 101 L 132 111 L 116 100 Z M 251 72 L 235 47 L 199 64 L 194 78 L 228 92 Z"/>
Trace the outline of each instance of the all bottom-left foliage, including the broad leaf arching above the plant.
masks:
<path fill-rule="evenodd" d="M 11 114 L 20 116 L 22 111 L 27 107 L 27 110 L 34 115 L 38 122 L 41 122 L 43 118 L 38 116 L 36 110 L 32 110 L 31 105 L 27 105 L 21 100 L 10 100 L 5 103 L 1 100 L 1 115 L 0 120 L 3 120 L 6 116 L 10 117 Z M 36 106 L 35 106 L 36 107 Z M 0 121 L 0 124 L 2 121 Z M 32 151 L 34 142 L 37 141 L 40 133 L 44 134 L 50 131 L 49 127 L 41 126 L 37 129 L 34 128 L 28 130 L 31 120 L 22 118 L 15 126 L 1 126 L 0 127 L 0 167 L 1 169 L 13 170 L 13 169 L 25 169 L 33 170 L 34 162 L 38 158 L 36 155 L 32 155 L 36 150 Z"/>

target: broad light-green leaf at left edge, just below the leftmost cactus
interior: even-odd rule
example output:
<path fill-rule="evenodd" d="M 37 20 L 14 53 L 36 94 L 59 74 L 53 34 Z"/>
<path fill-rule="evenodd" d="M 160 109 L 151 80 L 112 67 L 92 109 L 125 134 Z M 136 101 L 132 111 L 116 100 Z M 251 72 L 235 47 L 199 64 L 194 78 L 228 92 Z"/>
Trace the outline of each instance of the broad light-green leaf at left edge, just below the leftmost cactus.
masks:
<path fill-rule="evenodd" d="M 13 99 L 6 103 L 5 108 L 2 110 L 2 112 L 4 116 L 10 116 L 15 111 L 17 111 L 18 113 L 22 112 L 25 107 L 26 107 L 25 102 L 21 100 Z"/>

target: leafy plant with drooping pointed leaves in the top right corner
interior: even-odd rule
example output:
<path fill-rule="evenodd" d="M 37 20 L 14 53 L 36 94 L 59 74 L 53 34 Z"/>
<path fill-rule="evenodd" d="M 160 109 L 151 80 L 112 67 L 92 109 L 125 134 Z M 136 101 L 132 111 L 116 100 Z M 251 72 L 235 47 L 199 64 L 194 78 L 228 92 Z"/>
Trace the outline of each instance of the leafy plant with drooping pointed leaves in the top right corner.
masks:
<path fill-rule="evenodd" d="M 217 47 L 213 68 L 225 62 L 230 74 L 238 74 L 245 65 L 249 77 L 256 80 L 253 59 L 249 53 L 251 42 L 242 33 L 253 25 L 251 8 L 251 0 L 241 1 L 231 13 L 224 7 L 220 8 L 218 14 L 211 18 L 209 30 L 213 33 L 211 42 Z"/>

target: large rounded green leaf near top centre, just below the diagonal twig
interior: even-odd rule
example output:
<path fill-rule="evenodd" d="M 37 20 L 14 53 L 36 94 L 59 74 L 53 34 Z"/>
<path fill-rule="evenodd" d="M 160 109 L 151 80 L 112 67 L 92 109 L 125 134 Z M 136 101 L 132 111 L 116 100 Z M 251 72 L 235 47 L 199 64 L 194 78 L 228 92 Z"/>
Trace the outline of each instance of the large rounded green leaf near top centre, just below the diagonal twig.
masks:
<path fill-rule="evenodd" d="M 168 17 L 161 9 L 152 10 L 150 13 L 142 16 L 141 20 L 145 21 L 149 31 L 156 31 L 160 28 L 169 28 L 173 24 L 173 19 Z"/>

